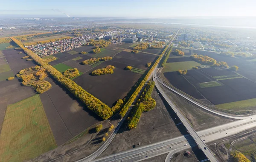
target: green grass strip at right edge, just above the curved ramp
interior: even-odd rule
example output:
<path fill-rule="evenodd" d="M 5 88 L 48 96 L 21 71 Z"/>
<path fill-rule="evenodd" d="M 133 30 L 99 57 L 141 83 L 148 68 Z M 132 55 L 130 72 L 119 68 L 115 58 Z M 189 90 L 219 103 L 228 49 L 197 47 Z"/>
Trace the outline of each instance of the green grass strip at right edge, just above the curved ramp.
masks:
<path fill-rule="evenodd" d="M 256 107 L 256 98 L 243 100 L 243 101 L 230 102 L 230 103 L 223 103 L 215 106 L 220 109 L 244 110 L 248 107 Z"/>

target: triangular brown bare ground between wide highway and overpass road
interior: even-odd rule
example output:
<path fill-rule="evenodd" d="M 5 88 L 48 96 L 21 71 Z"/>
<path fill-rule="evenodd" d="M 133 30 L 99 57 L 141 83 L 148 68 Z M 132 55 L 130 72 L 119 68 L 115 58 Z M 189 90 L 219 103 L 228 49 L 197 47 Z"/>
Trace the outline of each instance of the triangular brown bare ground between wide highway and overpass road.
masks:
<path fill-rule="evenodd" d="M 132 149 L 133 145 L 137 145 L 139 142 L 140 146 L 143 146 L 181 135 L 175 125 L 174 117 L 169 114 L 170 107 L 166 107 L 156 89 L 153 90 L 151 96 L 156 100 L 156 107 L 142 114 L 136 129 L 129 130 L 124 123 L 100 157 Z"/>

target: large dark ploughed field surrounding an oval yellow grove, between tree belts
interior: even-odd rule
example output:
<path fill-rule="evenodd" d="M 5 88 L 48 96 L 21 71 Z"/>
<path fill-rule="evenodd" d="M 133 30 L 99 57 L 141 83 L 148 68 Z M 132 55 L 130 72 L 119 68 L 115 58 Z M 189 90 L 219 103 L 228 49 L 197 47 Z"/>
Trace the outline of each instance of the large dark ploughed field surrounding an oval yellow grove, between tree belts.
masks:
<path fill-rule="evenodd" d="M 113 74 L 90 75 L 93 70 L 104 68 L 107 65 L 115 66 L 115 62 L 112 60 L 105 61 L 87 73 L 75 78 L 73 81 L 103 103 L 112 106 L 118 99 L 122 99 L 127 95 L 141 75 L 124 70 L 123 68 L 127 66 L 126 64 L 123 67 L 122 65 L 115 66 L 116 68 Z"/>

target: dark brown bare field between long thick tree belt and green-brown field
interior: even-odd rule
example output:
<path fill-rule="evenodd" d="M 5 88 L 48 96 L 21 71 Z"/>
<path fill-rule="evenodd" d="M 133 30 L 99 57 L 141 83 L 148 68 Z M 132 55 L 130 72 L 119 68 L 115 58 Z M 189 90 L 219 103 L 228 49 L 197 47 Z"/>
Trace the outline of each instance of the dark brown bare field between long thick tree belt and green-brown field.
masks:
<path fill-rule="evenodd" d="M 52 84 L 52 88 L 40 94 L 40 97 L 57 145 L 100 121 L 66 88 L 51 78 L 46 80 Z"/>

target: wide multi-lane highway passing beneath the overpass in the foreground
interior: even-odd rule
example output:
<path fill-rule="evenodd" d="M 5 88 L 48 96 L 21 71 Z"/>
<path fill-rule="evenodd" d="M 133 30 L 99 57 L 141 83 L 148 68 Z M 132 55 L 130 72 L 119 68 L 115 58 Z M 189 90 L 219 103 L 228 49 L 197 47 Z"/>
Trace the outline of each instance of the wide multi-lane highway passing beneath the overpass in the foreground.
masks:
<path fill-rule="evenodd" d="M 245 131 L 254 127 L 256 127 L 256 119 L 247 118 L 244 120 L 238 120 L 232 123 L 227 123 L 221 126 L 198 131 L 198 135 L 201 137 L 202 140 L 205 140 L 204 142 L 207 143 L 237 134 L 241 131 Z M 162 142 L 134 148 L 128 151 L 123 151 L 121 153 L 105 156 L 99 159 L 95 159 L 93 160 L 93 162 L 135 162 L 171 152 L 170 154 L 168 154 L 169 156 L 166 156 L 166 158 L 168 159 L 168 157 L 172 157 L 172 155 L 177 152 L 197 145 L 195 141 L 192 140 L 191 136 L 185 136 L 180 136 Z M 169 161 L 169 159 L 167 161 Z"/>

